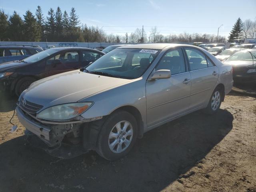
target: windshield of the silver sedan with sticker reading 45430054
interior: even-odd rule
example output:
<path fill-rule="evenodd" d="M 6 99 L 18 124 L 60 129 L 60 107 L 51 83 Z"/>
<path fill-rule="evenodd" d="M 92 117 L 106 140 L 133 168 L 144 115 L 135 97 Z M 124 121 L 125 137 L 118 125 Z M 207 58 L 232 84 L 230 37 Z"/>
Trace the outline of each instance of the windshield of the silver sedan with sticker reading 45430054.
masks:
<path fill-rule="evenodd" d="M 84 72 L 125 79 L 139 78 L 159 52 L 160 50 L 148 49 L 115 49 L 93 62 Z"/>

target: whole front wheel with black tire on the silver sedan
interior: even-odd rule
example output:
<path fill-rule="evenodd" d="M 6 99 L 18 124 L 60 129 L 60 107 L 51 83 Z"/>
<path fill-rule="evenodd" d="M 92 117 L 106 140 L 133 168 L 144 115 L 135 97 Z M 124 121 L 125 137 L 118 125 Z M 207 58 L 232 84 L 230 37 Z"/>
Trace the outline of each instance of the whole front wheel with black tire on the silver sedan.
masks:
<path fill-rule="evenodd" d="M 118 127 L 121 128 L 119 131 Z M 127 127 L 126 131 L 125 127 Z M 98 136 L 96 152 L 107 160 L 122 158 L 134 146 L 137 135 L 138 126 L 134 116 L 126 111 L 118 110 L 104 122 Z"/>

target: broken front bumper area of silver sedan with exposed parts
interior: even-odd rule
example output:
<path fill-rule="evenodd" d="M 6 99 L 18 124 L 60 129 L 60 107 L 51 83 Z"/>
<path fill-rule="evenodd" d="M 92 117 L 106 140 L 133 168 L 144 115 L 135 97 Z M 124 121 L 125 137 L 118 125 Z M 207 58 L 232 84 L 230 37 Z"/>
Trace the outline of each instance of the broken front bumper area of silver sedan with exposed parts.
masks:
<path fill-rule="evenodd" d="M 30 142 L 31 145 L 42 148 L 48 154 L 59 158 L 72 158 L 85 153 L 87 150 L 81 145 L 83 124 L 102 118 L 54 124 L 54 122 L 37 120 L 36 117 L 24 111 L 20 104 L 17 104 L 16 114 L 20 123 L 26 128 L 25 134 L 28 138 L 33 138 L 28 139 L 33 141 Z"/>

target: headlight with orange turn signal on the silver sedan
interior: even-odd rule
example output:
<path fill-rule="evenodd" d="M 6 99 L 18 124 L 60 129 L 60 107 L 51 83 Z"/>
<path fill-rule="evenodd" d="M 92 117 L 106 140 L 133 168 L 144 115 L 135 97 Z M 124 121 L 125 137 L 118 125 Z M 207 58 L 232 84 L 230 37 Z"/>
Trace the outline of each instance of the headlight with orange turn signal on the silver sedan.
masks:
<path fill-rule="evenodd" d="M 63 121 L 74 118 L 92 106 L 92 102 L 68 103 L 49 107 L 37 114 L 37 118 Z"/>

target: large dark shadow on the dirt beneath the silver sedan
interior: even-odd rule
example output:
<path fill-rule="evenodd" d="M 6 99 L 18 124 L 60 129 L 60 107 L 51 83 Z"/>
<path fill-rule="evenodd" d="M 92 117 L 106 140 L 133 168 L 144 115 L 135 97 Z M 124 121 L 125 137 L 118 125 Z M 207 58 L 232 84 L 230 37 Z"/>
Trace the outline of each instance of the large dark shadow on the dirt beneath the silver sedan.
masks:
<path fill-rule="evenodd" d="M 144 134 L 124 158 L 89 152 L 61 160 L 25 146 L 24 136 L 0 145 L 2 191 L 160 191 L 186 173 L 232 129 L 233 116 L 194 112 Z"/>

